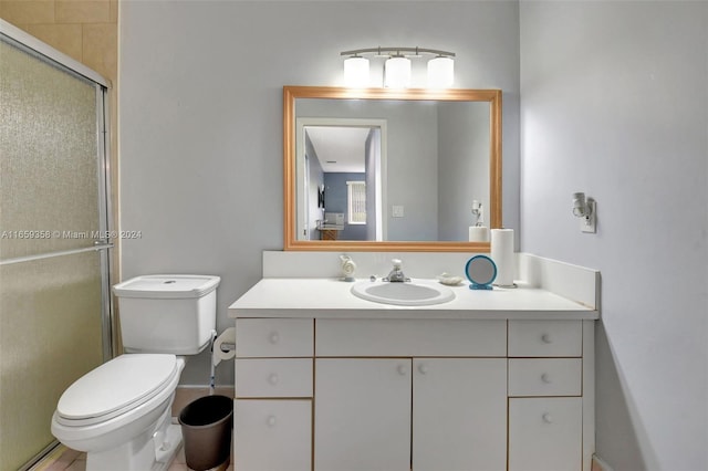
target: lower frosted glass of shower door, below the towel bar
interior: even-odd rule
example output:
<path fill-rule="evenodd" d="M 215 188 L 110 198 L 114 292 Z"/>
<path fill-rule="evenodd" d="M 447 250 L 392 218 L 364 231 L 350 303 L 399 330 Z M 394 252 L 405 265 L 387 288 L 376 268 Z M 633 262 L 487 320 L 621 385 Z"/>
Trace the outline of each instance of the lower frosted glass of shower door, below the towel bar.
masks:
<path fill-rule="evenodd" d="M 2 470 L 18 469 L 54 440 L 59 397 L 103 360 L 100 257 L 0 265 Z"/>

